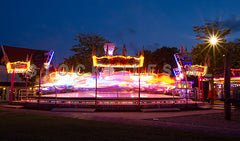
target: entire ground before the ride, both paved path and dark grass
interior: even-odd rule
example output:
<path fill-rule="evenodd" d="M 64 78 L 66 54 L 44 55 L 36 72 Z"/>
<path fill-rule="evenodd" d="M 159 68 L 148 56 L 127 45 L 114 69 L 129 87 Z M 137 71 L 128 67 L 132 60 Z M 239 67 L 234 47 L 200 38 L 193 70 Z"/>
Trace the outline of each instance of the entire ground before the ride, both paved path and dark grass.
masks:
<path fill-rule="evenodd" d="M 240 111 L 51 112 L 0 108 L 0 140 L 239 140 Z"/>

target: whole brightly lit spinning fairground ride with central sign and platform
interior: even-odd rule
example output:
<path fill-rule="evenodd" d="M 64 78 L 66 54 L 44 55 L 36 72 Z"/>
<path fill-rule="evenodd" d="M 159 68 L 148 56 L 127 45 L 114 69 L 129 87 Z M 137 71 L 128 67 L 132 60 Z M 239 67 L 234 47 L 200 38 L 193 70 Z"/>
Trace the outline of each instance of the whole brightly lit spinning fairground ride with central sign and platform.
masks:
<path fill-rule="evenodd" d="M 97 56 L 93 47 L 92 73 L 58 69 L 44 78 L 39 95 L 18 102 L 51 107 L 129 110 L 201 104 L 186 96 L 174 95 L 176 80 L 168 74 L 141 72 L 144 49 L 137 57 L 127 56 L 125 46 L 122 55 L 113 55 L 113 43 L 106 43 L 104 50 L 104 56 Z"/>

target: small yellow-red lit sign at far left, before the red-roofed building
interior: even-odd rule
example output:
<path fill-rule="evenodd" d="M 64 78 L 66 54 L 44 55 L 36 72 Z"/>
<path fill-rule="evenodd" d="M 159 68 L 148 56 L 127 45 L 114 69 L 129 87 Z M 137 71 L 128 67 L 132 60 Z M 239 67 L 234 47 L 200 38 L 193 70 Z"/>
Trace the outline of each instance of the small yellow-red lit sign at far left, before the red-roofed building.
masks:
<path fill-rule="evenodd" d="M 7 63 L 8 73 L 23 73 L 30 70 L 30 62 L 9 62 Z"/>

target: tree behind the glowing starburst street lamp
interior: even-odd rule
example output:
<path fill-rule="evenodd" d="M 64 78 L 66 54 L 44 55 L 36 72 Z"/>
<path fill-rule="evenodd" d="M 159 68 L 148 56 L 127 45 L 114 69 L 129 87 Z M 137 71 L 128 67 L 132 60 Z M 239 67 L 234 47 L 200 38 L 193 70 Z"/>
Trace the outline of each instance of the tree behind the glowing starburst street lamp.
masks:
<path fill-rule="evenodd" d="M 196 40 L 203 40 L 203 43 L 198 43 L 192 48 L 193 63 L 207 64 L 208 74 L 211 77 L 211 90 L 213 94 L 213 78 L 218 75 L 223 75 L 224 59 L 227 49 L 231 47 L 235 53 L 239 51 L 237 48 L 239 43 L 227 42 L 226 37 L 230 34 L 230 29 L 222 27 L 218 22 L 206 23 L 202 26 L 193 26 L 193 32 L 196 34 Z M 215 37 L 216 45 L 210 43 L 210 38 Z M 235 61 L 237 62 L 237 60 Z M 213 96 L 212 96 L 213 97 Z M 214 101 L 212 99 L 211 104 Z"/>

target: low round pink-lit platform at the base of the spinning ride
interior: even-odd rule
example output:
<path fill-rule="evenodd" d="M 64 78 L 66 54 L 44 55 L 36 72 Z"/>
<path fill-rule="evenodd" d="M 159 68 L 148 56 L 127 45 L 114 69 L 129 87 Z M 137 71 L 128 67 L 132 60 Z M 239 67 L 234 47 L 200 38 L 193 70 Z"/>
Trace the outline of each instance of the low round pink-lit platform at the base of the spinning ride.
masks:
<path fill-rule="evenodd" d="M 53 93 L 43 94 L 38 99 L 38 96 L 28 98 L 25 101 L 30 103 L 41 104 L 60 104 L 60 105 L 177 105 L 191 102 L 191 99 L 185 99 L 181 96 L 154 94 L 149 92 L 140 92 L 140 101 L 138 95 L 139 89 L 126 88 L 98 88 L 95 89 L 80 89 L 70 93 Z M 57 92 L 57 91 L 56 91 Z M 24 93 L 22 93 L 24 95 Z M 140 104 L 139 104 L 140 102 Z"/>

